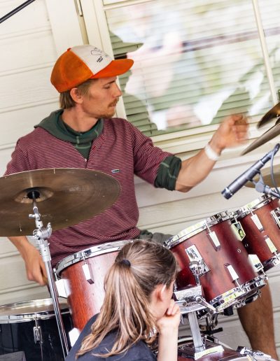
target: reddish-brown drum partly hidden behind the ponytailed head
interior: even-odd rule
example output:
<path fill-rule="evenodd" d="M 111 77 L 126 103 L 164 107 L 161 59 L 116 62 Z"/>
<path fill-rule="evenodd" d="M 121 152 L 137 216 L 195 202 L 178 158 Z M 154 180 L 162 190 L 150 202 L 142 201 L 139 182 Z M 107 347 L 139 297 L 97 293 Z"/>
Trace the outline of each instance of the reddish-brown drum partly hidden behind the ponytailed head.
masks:
<path fill-rule="evenodd" d="M 103 243 L 65 257 L 56 274 L 64 280 L 73 325 L 79 331 L 99 313 L 104 300 L 104 278 L 118 255 L 130 241 Z"/>

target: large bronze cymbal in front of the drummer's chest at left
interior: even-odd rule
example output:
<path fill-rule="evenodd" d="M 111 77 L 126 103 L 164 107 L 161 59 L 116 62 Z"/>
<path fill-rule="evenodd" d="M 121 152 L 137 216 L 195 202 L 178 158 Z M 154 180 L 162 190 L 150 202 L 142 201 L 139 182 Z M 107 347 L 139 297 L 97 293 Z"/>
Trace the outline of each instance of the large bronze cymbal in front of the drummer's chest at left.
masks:
<path fill-rule="evenodd" d="M 33 200 L 41 220 L 52 230 L 76 225 L 104 212 L 118 199 L 113 177 L 89 169 L 56 168 L 23 171 L 0 178 L 0 236 L 26 236 L 36 228 Z"/>

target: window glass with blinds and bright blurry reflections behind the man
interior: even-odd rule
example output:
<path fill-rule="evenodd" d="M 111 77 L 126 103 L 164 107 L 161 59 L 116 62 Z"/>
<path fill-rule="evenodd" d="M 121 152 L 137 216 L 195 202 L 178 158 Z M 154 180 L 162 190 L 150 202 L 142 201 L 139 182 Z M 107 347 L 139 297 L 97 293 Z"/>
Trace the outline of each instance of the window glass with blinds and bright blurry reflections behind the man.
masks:
<path fill-rule="evenodd" d="M 263 21 L 278 69 L 280 29 L 269 13 Z M 209 125 L 235 112 L 262 115 L 272 106 L 251 0 L 152 0 L 106 17 L 115 57 L 134 59 L 120 82 L 127 118 L 143 132 Z"/>

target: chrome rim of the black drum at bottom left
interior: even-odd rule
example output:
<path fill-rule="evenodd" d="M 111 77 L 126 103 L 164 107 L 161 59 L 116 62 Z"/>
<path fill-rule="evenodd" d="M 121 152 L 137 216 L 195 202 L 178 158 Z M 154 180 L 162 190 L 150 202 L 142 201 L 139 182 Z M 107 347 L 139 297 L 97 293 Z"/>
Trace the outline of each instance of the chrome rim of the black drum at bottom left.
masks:
<path fill-rule="evenodd" d="M 63 301 L 63 302 L 62 302 Z M 65 299 L 59 298 L 59 305 L 62 306 L 61 313 L 62 315 L 69 313 L 69 306 L 66 303 Z M 20 307 L 22 306 L 52 306 L 53 302 L 51 298 L 43 298 L 43 299 L 29 299 L 28 301 L 20 301 L 20 302 L 13 302 L 10 304 L 2 304 L 0 305 L 0 311 L 1 308 L 6 309 L 17 309 L 18 313 L 13 315 L 1 315 L 0 314 L 0 324 L 6 324 L 6 323 L 22 323 L 22 322 L 29 322 L 32 320 L 46 320 L 50 318 L 55 317 L 55 310 L 45 310 L 45 311 L 34 311 L 34 312 L 24 312 L 20 313 Z"/>

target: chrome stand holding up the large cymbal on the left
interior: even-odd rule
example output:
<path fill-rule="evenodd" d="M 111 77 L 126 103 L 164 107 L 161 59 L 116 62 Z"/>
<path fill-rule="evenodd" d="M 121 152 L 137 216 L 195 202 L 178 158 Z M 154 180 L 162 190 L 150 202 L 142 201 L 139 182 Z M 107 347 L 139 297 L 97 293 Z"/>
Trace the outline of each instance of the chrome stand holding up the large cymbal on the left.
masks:
<path fill-rule="evenodd" d="M 47 271 L 48 276 L 48 286 L 50 290 L 50 295 L 52 297 L 53 307 L 55 311 L 55 318 L 57 320 L 57 327 L 59 332 L 59 338 L 62 344 L 62 351 L 64 358 L 69 353 L 69 348 L 66 339 L 66 333 L 64 329 L 64 325 L 62 322 L 62 315 L 59 308 L 58 296 L 57 296 L 57 289 L 55 287 L 55 280 L 52 274 L 52 267 L 50 264 L 50 248 L 48 246 L 48 239 L 52 234 L 52 227 L 50 222 L 48 223 L 47 227 L 43 227 L 43 222 L 41 221 L 41 215 L 38 212 L 38 207 L 36 205 L 36 199 L 40 197 L 40 193 L 37 190 L 31 190 L 27 197 L 33 200 L 33 214 L 29 214 L 29 218 L 33 218 L 35 220 L 36 229 L 33 231 L 33 236 L 36 238 L 36 244 L 40 250 L 41 256 L 43 258 L 43 262 L 45 263 L 45 269 Z"/>

